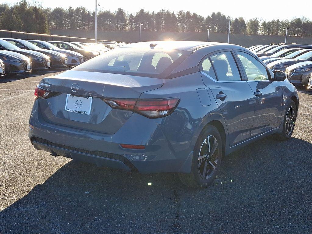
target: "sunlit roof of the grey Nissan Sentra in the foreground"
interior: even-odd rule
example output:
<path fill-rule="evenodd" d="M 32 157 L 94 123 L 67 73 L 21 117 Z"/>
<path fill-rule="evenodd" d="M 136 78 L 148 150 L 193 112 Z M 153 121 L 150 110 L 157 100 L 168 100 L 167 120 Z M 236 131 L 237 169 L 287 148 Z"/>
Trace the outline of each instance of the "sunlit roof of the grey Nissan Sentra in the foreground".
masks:
<path fill-rule="evenodd" d="M 207 41 L 146 41 L 127 44 L 122 47 L 150 47 L 150 44 L 156 44 L 155 48 L 193 51 L 203 46 L 228 45 L 227 43 L 207 42 Z"/>

